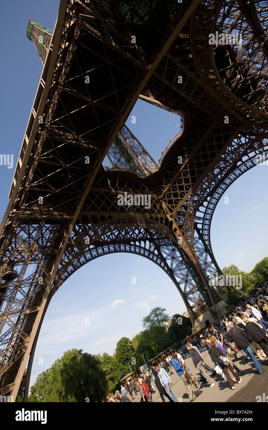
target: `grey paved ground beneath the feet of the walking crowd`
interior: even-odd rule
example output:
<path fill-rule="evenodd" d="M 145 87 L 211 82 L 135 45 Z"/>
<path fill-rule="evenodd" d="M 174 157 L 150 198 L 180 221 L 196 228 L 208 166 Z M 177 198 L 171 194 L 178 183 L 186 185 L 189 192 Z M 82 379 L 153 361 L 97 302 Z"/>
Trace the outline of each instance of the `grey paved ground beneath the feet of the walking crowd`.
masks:
<path fill-rule="evenodd" d="M 202 345 L 199 348 L 200 353 L 203 356 L 204 361 L 211 368 L 214 367 L 214 363 L 210 359 L 209 353 L 206 350 L 206 347 Z M 241 378 L 242 382 L 237 384 L 234 383 L 235 389 L 232 390 L 228 381 L 224 381 L 221 376 L 217 375 L 216 378 L 213 378 L 215 382 L 214 387 L 209 387 L 208 384 L 201 384 L 200 390 L 202 393 L 194 400 L 193 403 L 197 402 L 256 402 L 256 396 L 263 396 L 263 393 L 266 392 L 268 396 L 268 359 L 261 362 L 263 368 L 265 369 L 265 373 L 260 375 L 257 372 L 254 363 L 251 360 L 245 360 L 241 352 L 237 353 L 238 360 L 234 362 L 235 365 L 239 369 L 243 371 Z M 260 360 L 259 360 L 260 361 Z M 185 362 L 187 367 L 191 369 L 191 373 L 199 379 L 199 375 L 197 374 L 197 370 L 194 368 L 194 364 L 190 356 L 185 358 Z M 181 380 L 181 378 L 176 374 L 173 367 L 171 368 L 173 375 L 171 375 L 170 379 L 172 381 L 172 386 L 170 387 L 176 398 L 181 398 L 182 402 L 190 403 L 188 392 L 186 387 Z M 256 373 L 255 373 L 256 372 Z M 210 373 L 208 374 L 210 376 Z M 232 376 L 232 375 L 231 375 Z M 153 383 L 154 385 L 154 383 Z M 266 390 L 266 391 L 265 391 Z M 134 391 L 133 391 L 134 393 Z M 153 402 L 161 402 L 162 400 L 159 396 L 158 390 L 156 389 L 156 393 L 153 393 Z M 168 402 L 168 399 L 165 400 Z M 267 397 L 268 400 L 268 397 Z M 134 394 L 134 402 L 140 402 L 140 395 Z"/>

